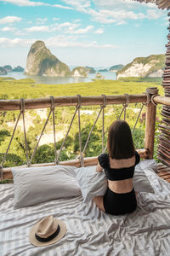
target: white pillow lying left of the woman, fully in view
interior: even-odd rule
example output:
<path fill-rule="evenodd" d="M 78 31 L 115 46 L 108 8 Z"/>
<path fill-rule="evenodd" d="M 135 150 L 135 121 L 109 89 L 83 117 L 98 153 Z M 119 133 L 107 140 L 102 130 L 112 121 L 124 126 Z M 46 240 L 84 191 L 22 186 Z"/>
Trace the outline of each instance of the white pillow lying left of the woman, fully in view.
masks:
<path fill-rule="evenodd" d="M 74 166 L 12 168 L 14 207 L 27 207 L 43 201 L 82 195 Z"/>

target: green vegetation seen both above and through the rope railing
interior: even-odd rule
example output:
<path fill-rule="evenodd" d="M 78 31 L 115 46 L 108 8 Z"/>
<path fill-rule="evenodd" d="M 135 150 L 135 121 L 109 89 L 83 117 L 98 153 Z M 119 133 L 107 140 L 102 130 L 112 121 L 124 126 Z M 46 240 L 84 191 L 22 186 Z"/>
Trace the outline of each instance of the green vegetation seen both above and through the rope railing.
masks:
<path fill-rule="evenodd" d="M 96 80 L 95 82 L 79 83 L 79 84 L 35 84 L 31 79 L 9 80 L 0 79 L 0 99 L 20 99 L 40 98 L 47 96 L 74 96 L 80 94 L 82 96 L 99 96 L 105 95 L 122 95 L 142 94 L 148 87 L 157 87 L 160 95 L 163 96 L 163 88 L 159 79 L 123 79 L 121 81 L 113 80 Z M 133 125 L 139 114 L 142 104 L 130 104 L 127 108 L 127 122 L 133 129 Z M 33 150 L 37 144 L 38 137 L 42 131 L 42 127 L 47 118 L 47 113 L 43 109 L 41 115 L 37 110 L 26 110 L 26 137 L 28 141 L 28 154 L 31 157 Z M 87 112 L 88 111 L 88 112 Z M 105 108 L 105 144 L 107 141 L 107 131 L 111 123 L 118 118 L 122 111 L 122 105 L 108 105 Z M 63 143 L 65 134 L 71 123 L 71 118 L 75 112 L 75 107 L 55 108 L 55 129 L 57 143 L 56 148 L 59 154 L 59 148 Z M 8 147 L 10 137 L 12 135 L 15 121 L 19 115 L 19 111 L 1 111 L 0 112 L 0 161 Z M 99 106 L 88 106 L 81 108 L 81 130 L 82 130 L 82 148 L 88 138 L 88 133 L 94 125 L 94 121 L 99 113 Z M 123 117 L 123 116 L 122 116 Z M 157 107 L 157 124 L 161 119 L 161 106 Z M 157 125 L 156 124 L 156 125 Z M 20 124 L 22 125 L 22 119 Z M 144 127 L 145 127 L 145 108 L 141 114 L 138 125 L 133 133 L 135 148 L 144 148 Z M 48 121 L 48 125 L 43 132 L 47 137 L 45 143 L 37 148 L 32 163 L 52 162 L 54 161 L 54 144 L 49 139 L 49 134 L 53 132 L 52 117 Z M 158 130 L 156 126 L 156 136 Z M 90 137 L 88 147 L 84 156 L 96 156 L 101 153 L 102 148 L 102 118 L 99 117 L 94 127 L 92 136 Z M 43 139 L 43 136 L 42 136 Z M 42 140 L 41 139 L 41 140 Z M 41 141 L 40 141 L 41 142 Z M 157 143 L 157 142 L 156 142 Z M 78 119 L 75 117 L 69 136 L 65 140 L 63 151 L 59 160 L 75 159 L 80 154 L 78 141 Z M 156 152 L 155 152 L 156 157 Z M 20 166 L 26 164 L 26 144 L 22 127 L 18 127 L 15 131 L 14 140 L 8 151 L 8 158 L 3 166 Z"/>

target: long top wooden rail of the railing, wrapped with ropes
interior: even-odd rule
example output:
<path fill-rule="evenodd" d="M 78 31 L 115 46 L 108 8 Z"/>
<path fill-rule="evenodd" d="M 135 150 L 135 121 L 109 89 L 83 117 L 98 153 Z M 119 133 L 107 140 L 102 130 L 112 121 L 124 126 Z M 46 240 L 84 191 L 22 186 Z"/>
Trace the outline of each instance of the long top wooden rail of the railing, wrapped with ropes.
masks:
<path fill-rule="evenodd" d="M 127 102 L 127 96 L 106 96 L 107 105 L 123 104 Z M 129 95 L 129 103 L 146 102 L 147 97 L 144 94 Z M 82 106 L 101 105 L 104 103 L 103 96 L 82 96 Z M 54 97 L 54 107 L 77 106 L 77 96 L 59 96 Z M 20 110 L 20 100 L 0 100 L 0 111 L 3 110 Z M 25 109 L 50 108 L 51 98 L 26 99 Z"/>

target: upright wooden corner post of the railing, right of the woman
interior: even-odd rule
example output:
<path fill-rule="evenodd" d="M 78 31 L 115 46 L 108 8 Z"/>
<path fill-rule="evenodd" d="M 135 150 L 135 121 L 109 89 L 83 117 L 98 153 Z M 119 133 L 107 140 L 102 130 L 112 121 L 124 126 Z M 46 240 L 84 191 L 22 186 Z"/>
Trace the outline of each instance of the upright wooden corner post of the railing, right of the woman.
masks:
<path fill-rule="evenodd" d="M 144 148 L 149 149 L 149 156 L 147 157 L 147 159 L 153 159 L 156 126 L 156 104 L 154 104 L 152 99 L 153 96 L 156 96 L 158 94 L 157 87 L 147 88 L 146 94 L 148 97 L 148 104 L 146 107 Z"/>

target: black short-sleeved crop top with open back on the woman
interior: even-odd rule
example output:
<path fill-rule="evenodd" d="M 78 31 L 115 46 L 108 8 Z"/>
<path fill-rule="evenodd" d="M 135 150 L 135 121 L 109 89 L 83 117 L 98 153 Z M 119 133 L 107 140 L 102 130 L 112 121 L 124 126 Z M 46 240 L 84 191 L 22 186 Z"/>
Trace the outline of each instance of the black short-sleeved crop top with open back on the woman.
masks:
<path fill-rule="evenodd" d="M 140 156 L 138 152 L 135 151 L 135 164 L 130 167 L 123 168 L 111 168 L 109 162 L 109 154 L 100 154 L 98 157 L 99 165 L 105 170 L 105 175 L 109 180 L 123 180 L 131 178 L 134 175 L 134 167 L 139 164 Z"/>

